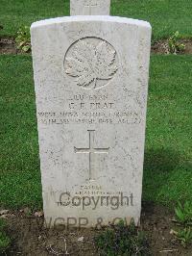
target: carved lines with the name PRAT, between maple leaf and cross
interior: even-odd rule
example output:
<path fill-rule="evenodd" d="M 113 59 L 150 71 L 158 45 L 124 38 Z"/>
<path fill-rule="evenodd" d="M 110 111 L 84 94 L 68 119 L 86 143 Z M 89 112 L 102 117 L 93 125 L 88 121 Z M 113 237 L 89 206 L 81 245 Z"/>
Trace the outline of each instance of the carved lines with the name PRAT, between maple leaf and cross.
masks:
<path fill-rule="evenodd" d="M 136 101 L 134 98 L 131 99 Z M 65 106 L 60 112 L 41 111 L 37 115 L 39 122 L 43 125 L 139 124 L 141 122 L 141 107 L 135 103 L 134 108 L 129 105 L 121 109 L 108 93 L 71 93 L 66 98 Z"/>

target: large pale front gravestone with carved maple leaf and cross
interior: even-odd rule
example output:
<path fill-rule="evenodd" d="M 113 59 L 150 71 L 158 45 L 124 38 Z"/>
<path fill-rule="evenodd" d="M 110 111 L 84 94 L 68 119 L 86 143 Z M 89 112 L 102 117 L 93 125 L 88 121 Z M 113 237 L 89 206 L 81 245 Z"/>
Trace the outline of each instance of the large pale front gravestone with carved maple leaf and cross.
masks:
<path fill-rule="evenodd" d="M 71 16 L 31 34 L 46 221 L 138 223 L 150 24 Z"/>

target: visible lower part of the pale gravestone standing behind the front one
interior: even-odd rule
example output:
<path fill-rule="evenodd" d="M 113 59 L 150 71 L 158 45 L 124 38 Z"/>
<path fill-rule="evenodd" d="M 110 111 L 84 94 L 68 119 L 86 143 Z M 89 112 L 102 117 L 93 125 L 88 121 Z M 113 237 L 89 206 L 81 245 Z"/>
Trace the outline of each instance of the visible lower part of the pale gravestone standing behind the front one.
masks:
<path fill-rule="evenodd" d="M 72 15 L 109 15 L 110 0 L 71 0 Z"/>

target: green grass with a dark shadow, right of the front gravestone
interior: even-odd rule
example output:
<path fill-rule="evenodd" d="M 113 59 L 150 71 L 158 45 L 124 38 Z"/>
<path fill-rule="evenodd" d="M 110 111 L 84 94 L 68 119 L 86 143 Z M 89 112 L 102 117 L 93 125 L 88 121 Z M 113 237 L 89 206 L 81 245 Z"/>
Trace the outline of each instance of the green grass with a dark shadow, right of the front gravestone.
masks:
<path fill-rule="evenodd" d="M 192 56 L 154 56 L 143 199 L 192 200 Z"/>

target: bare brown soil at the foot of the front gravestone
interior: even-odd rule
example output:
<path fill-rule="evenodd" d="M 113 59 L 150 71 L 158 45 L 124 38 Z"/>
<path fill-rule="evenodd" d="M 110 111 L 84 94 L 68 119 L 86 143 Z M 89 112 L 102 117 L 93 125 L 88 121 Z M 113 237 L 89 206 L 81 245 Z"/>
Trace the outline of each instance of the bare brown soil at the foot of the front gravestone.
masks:
<path fill-rule="evenodd" d="M 176 227 L 172 218 L 173 213 L 165 207 L 143 204 L 141 229 L 148 237 L 152 254 L 191 256 L 192 246 L 182 247 L 170 234 L 170 230 Z M 99 255 L 94 237 L 101 230 L 46 229 L 43 227 L 43 218 L 26 217 L 23 213 L 13 213 L 8 223 L 12 246 L 7 255 Z"/>

